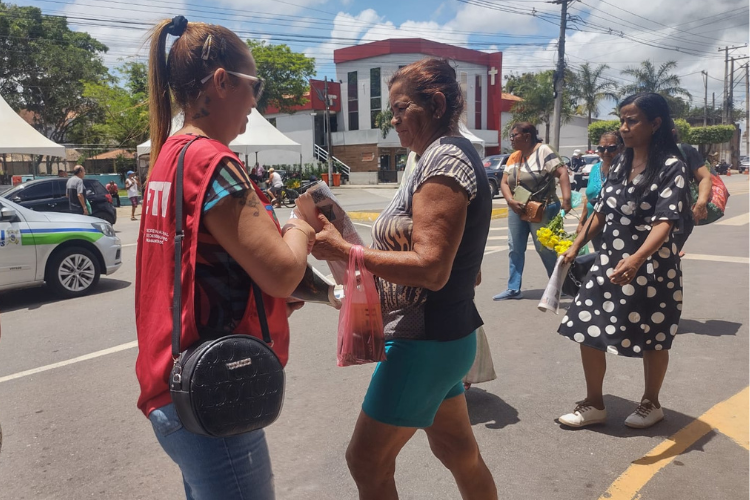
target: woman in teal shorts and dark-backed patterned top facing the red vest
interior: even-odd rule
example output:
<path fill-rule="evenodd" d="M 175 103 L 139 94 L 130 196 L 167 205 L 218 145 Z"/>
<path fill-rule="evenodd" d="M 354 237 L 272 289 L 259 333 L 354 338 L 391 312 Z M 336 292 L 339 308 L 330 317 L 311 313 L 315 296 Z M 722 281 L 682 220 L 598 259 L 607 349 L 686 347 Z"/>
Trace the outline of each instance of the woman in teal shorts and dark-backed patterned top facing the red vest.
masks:
<path fill-rule="evenodd" d="M 364 251 L 365 266 L 377 276 L 387 361 L 375 368 L 346 461 L 360 499 L 396 499 L 396 459 L 424 429 L 462 498 L 496 500 L 462 382 L 482 325 L 473 299 L 492 212 L 489 181 L 458 131 L 464 99 L 449 61 L 404 66 L 388 88 L 391 124 L 418 161 Z M 351 245 L 320 217 L 324 228 L 313 255 L 348 261 Z"/>

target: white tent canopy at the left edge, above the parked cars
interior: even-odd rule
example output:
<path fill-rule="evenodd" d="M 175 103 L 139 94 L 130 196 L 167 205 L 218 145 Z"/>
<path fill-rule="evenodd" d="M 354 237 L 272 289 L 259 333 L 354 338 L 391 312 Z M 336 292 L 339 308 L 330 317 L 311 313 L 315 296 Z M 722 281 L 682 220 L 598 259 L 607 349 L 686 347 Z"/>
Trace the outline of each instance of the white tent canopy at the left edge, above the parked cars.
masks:
<path fill-rule="evenodd" d="M 50 141 L 13 111 L 0 96 L 0 153 L 65 157 L 65 146 Z"/>

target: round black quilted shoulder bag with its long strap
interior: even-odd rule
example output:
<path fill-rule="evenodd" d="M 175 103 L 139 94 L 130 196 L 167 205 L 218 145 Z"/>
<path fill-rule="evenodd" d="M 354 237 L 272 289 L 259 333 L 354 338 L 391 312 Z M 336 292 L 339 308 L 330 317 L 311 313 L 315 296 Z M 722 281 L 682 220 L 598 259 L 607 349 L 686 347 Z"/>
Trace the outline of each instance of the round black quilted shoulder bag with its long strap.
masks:
<path fill-rule="evenodd" d="M 271 349 L 263 295 L 255 283 L 253 296 L 263 340 L 226 335 L 205 340 L 180 352 L 182 331 L 182 174 L 185 145 L 175 179 L 175 278 L 172 305 L 172 358 L 169 390 L 182 425 L 210 437 L 230 437 L 272 424 L 284 402 L 284 368 Z"/>

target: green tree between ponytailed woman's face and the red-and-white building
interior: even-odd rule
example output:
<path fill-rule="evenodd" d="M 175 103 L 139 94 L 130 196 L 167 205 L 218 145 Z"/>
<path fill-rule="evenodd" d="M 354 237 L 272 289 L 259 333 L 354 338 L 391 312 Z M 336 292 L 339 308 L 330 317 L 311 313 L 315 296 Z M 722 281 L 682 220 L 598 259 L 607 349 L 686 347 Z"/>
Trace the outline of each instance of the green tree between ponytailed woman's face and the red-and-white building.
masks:
<path fill-rule="evenodd" d="M 308 80 L 315 75 L 315 59 L 302 53 L 292 52 L 288 45 L 272 45 L 265 41 L 248 40 L 255 59 L 258 76 L 266 82 L 258 103 L 258 111 L 264 113 L 268 106 L 282 112 L 305 104 L 305 92 L 310 90 Z"/>

